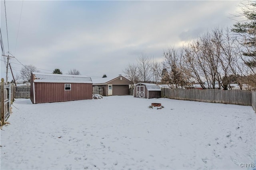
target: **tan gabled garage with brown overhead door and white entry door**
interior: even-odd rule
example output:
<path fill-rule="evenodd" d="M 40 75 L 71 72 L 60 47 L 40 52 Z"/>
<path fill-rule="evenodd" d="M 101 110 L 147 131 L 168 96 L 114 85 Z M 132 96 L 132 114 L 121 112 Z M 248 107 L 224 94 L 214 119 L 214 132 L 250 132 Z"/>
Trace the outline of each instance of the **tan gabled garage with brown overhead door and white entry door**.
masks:
<path fill-rule="evenodd" d="M 103 96 L 129 95 L 129 85 L 133 84 L 123 76 L 96 78 L 92 82 L 94 88 L 103 88 Z"/>

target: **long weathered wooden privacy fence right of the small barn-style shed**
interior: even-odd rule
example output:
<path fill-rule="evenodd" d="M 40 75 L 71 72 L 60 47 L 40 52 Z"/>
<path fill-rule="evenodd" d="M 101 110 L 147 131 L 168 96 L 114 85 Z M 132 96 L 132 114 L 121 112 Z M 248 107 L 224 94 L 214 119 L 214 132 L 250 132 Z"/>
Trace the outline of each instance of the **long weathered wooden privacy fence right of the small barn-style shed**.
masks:
<path fill-rule="evenodd" d="M 252 106 L 252 92 L 248 90 L 162 88 L 161 97 L 164 96 L 178 100 Z"/>

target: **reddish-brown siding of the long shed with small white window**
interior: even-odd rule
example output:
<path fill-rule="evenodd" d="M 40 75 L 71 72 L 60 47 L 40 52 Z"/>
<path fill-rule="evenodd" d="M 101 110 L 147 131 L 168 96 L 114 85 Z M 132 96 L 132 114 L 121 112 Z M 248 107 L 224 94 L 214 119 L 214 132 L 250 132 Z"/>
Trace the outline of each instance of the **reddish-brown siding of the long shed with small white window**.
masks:
<path fill-rule="evenodd" d="M 34 84 L 36 104 L 92 99 L 92 84 L 90 83 L 70 83 L 70 91 L 64 90 L 66 83 L 35 82 Z M 33 102 L 33 98 L 31 101 Z"/>

